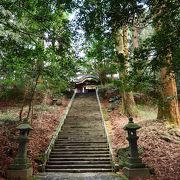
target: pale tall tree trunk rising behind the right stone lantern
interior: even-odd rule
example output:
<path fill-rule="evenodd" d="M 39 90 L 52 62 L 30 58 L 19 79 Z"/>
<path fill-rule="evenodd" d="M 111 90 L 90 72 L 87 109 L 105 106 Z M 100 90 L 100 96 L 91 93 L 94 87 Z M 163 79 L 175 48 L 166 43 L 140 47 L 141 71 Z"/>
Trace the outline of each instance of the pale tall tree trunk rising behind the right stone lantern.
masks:
<path fill-rule="evenodd" d="M 120 56 L 123 56 L 124 60 L 120 62 L 120 80 L 122 82 L 121 92 L 122 92 L 122 106 L 121 110 L 124 114 L 128 116 L 133 116 L 136 114 L 136 105 L 133 97 L 132 91 L 127 91 L 129 89 L 125 82 L 125 79 L 128 75 L 129 64 L 128 64 L 128 26 L 123 26 L 122 29 L 118 30 L 117 33 L 117 53 Z"/>

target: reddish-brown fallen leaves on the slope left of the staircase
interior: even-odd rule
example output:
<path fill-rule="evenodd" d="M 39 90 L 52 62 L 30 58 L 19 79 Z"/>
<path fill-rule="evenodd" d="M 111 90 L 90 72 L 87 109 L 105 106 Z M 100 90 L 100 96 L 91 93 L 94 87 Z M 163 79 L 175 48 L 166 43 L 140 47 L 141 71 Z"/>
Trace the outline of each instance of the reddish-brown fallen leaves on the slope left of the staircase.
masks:
<path fill-rule="evenodd" d="M 35 112 L 32 120 L 33 131 L 30 132 L 30 141 L 28 144 L 28 157 L 32 161 L 34 173 L 37 172 L 38 167 L 34 159 L 47 149 L 55 129 L 59 124 L 59 119 L 68 105 L 68 101 L 69 100 L 64 99 L 62 106 L 53 106 L 53 108 L 49 108 L 48 111 Z M 18 147 L 18 144 L 14 140 L 11 141 L 9 139 L 9 135 L 5 133 L 2 127 L 0 129 L 0 179 L 5 177 L 5 171 L 17 154 Z M 8 125 L 6 128 L 8 128 L 10 132 L 16 132 L 17 137 L 18 132 L 16 125 Z M 6 148 L 13 150 L 11 157 L 5 152 Z"/>

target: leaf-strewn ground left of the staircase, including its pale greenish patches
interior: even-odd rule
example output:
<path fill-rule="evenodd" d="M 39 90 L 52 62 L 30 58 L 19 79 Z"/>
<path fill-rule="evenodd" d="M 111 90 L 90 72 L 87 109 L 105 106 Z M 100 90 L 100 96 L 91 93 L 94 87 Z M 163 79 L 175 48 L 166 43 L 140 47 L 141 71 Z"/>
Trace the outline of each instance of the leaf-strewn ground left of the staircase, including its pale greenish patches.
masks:
<path fill-rule="evenodd" d="M 28 144 L 28 157 L 33 164 L 34 173 L 38 171 L 37 159 L 47 149 L 68 102 L 68 99 L 63 99 L 61 106 L 35 106 L 31 122 L 33 131 L 30 132 L 30 141 Z M 0 119 L 6 117 L 4 113 L 10 114 L 8 118 L 18 117 L 18 107 L 13 107 L 12 105 L 10 107 L 7 104 L 4 105 L 4 103 L 1 103 L 1 105 Z M 5 179 L 5 171 L 17 154 L 18 143 L 14 139 L 14 137 L 18 137 L 18 131 L 16 130 L 17 124 L 18 122 L 16 121 L 11 123 L 1 121 L 0 123 L 0 179 Z"/>

